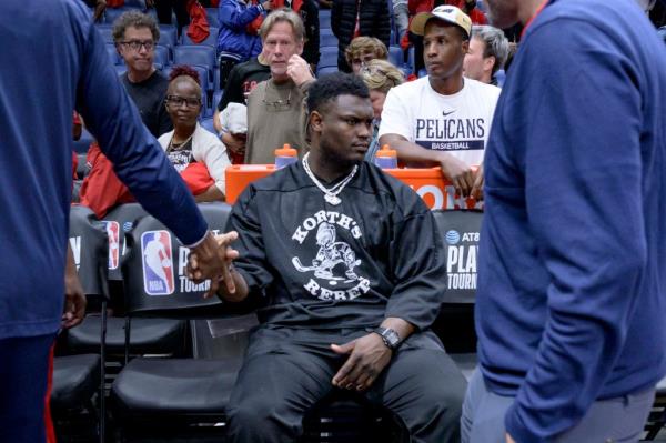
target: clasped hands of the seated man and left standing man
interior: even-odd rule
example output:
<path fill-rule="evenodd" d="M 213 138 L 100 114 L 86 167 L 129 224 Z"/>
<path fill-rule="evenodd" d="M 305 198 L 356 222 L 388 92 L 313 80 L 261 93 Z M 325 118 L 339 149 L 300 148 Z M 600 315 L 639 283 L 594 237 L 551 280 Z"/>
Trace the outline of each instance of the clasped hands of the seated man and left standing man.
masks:
<path fill-rule="evenodd" d="M 213 296 L 218 292 L 220 282 L 224 281 L 229 293 L 235 292 L 233 279 L 231 278 L 229 266 L 231 261 L 238 258 L 238 251 L 229 248 L 229 244 L 238 239 L 235 231 L 215 236 L 208 232 L 205 239 L 190 253 L 188 263 L 188 278 L 195 283 L 210 279 L 211 288 L 203 295 L 205 299 Z"/>

